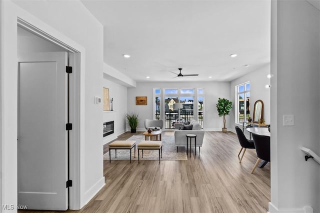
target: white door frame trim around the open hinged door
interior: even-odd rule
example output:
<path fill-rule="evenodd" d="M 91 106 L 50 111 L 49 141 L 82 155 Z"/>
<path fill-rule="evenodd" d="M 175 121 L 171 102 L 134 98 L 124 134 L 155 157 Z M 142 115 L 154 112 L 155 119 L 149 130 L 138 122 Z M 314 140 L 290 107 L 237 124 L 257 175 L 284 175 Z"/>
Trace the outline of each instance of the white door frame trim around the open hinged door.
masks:
<path fill-rule="evenodd" d="M 35 27 L 27 21 L 17 18 L 17 26 L 32 32 L 33 34 L 65 49 L 69 56 L 69 65 L 72 66 L 72 74 L 69 75 L 69 120 L 72 123 L 72 130 L 69 131 L 69 179 L 72 180 L 72 186 L 69 187 L 69 209 L 80 209 L 83 205 L 81 203 L 81 194 L 83 194 L 83 184 L 81 180 L 84 179 L 84 150 L 83 140 L 84 135 L 84 57 L 85 50 L 77 43 L 71 42 L 68 38 L 61 35 L 55 37 L 49 33 Z M 59 38 L 59 39 L 58 39 Z M 68 40 L 71 44 L 65 43 L 61 40 Z"/>

